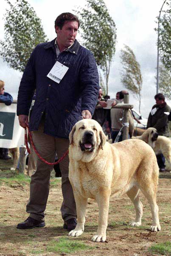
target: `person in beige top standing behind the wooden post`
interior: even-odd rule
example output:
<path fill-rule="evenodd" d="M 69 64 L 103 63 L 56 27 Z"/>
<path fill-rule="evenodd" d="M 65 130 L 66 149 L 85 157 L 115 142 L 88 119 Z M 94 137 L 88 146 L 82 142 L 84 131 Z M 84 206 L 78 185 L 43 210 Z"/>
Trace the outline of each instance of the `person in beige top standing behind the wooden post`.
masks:
<path fill-rule="evenodd" d="M 119 100 L 117 103 L 123 103 L 124 95 L 129 94 L 126 90 L 122 90 L 119 93 Z M 112 108 L 110 110 L 111 122 L 112 122 L 112 143 L 115 142 L 115 139 L 122 128 L 122 122 L 120 119 L 123 117 L 123 109 L 122 108 Z M 132 137 L 132 133 L 134 131 L 134 120 L 131 111 L 129 110 L 129 135 Z M 119 137 L 118 142 L 122 141 L 122 131 Z"/>

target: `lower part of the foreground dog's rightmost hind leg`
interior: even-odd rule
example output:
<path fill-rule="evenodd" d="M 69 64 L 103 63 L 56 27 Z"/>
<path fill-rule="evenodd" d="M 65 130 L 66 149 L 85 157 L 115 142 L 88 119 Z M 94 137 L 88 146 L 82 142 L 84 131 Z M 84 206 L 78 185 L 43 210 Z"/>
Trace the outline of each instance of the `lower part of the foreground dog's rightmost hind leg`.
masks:
<path fill-rule="evenodd" d="M 151 207 L 153 221 L 150 229 L 152 232 L 160 231 L 161 227 L 159 222 L 159 207 L 156 203 L 156 192 L 153 190 L 153 184 L 150 184 L 150 187 L 147 189 L 141 189 L 141 191 L 149 201 Z"/>

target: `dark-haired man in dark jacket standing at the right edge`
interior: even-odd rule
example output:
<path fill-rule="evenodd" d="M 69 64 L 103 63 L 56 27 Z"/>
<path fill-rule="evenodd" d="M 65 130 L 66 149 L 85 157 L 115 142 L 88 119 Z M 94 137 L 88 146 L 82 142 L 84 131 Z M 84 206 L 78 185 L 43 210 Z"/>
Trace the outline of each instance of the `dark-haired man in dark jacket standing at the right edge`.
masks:
<path fill-rule="evenodd" d="M 168 121 L 167 112 L 171 111 L 171 108 L 165 102 L 165 96 L 162 93 L 157 93 L 154 96 L 156 104 L 152 107 L 149 113 L 147 121 L 147 128 L 154 127 L 157 129 L 159 135 L 163 135 L 165 132 L 165 126 Z M 160 168 L 160 172 L 165 171 L 165 158 L 163 154 L 157 155 L 157 163 Z"/>

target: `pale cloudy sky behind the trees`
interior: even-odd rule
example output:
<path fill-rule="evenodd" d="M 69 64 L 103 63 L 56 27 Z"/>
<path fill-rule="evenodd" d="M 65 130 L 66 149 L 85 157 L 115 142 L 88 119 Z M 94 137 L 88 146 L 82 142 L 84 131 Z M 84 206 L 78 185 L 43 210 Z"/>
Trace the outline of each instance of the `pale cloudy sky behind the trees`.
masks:
<path fill-rule="evenodd" d="M 14 3 L 11 0 L 11 3 Z M 109 74 L 109 95 L 115 98 L 116 92 L 125 89 L 121 83 L 121 49 L 124 44 L 129 46 L 135 53 L 136 59 L 140 64 L 143 76 L 141 114 L 148 118 L 151 107 L 155 104 L 156 94 L 156 67 L 157 67 L 157 27 L 155 21 L 159 15 L 163 0 L 104 0 L 109 15 L 115 21 L 117 28 L 116 52 L 113 57 L 112 66 Z M 42 26 L 49 41 L 56 37 L 54 30 L 54 20 L 62 12 L 73 12 L 73 9 L 84 7 L 85 0 L 28 0 L 34 8 L 38 17 L 42 20 Z M 60 4 L 59 4 L 60 3 Z M 0 0 L 0 39 L 4 38 L 3 14 L 6 12 L 5 0 Z M 163 6 L 165 9 L 165 6 Z M 74 13 L 74 12 L 73 12 Z M 81 41 L 80 35 L 77 35 Z M 0 80 L 5 81 L 6 91 L 17 99 L 18 87 L 22 73 L 13 70 L 0 58 Z M 160 92 L 160 88 L 159 88 Z M 129 93 L 129 102 L 138 111 L 139 103 L 132 93 Z M 171 102 L 167 101 L 171 106 Z"/>

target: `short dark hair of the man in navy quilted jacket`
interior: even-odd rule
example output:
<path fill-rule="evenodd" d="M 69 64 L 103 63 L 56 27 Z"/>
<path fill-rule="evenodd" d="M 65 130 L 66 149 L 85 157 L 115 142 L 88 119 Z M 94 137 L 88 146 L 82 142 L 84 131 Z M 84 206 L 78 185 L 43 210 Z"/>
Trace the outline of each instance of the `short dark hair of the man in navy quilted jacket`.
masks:
<path fill-rule="evenodd" d="M 55 28 L 56 26 L 58 26 L 60 29 L 62 29 L 62 27 L 64 26 L 64 22 L 65 21 L 77 21 L 78 22 L 78 28 L 80 26 L 80 22 L 78 20 L 78 17 L 70 12 L 63 12 L 62 14 L 60 14 L 56 20 L 55 20 Z"/>

